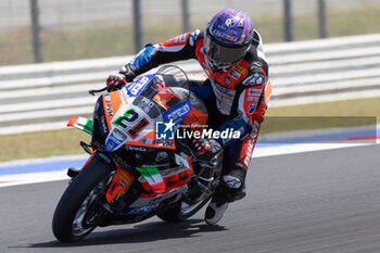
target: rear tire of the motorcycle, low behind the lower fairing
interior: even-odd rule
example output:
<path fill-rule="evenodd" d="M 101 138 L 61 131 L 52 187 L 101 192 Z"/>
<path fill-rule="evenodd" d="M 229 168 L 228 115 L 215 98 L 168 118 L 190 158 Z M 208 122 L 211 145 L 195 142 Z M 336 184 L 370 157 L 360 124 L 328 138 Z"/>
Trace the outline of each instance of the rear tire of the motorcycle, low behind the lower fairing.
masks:
<path fill-rule="evenodd" d="M 201 200 L 193 205 L 188 205 L 183 201 L 178 201 L 173 207 L 165 210 L 164 212 L 157 214 L 157 216 L 167 223 L 183 222 L 200 211 L 210 201 L 212 195 L 204 200 Z"/>

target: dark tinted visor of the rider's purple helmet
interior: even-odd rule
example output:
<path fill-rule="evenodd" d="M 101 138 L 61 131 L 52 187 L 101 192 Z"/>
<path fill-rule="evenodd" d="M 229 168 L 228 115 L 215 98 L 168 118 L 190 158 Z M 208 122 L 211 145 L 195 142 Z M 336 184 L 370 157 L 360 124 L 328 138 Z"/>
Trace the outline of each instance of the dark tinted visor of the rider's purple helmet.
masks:
<path fill-rule="evenodd" d="M 230 66 L 244 58 L 250 43 L 242 47 L 226 47 L 215 42 L 208 34 L 205 36 L 204 49 L 207 60 L 218 67 Z"/>

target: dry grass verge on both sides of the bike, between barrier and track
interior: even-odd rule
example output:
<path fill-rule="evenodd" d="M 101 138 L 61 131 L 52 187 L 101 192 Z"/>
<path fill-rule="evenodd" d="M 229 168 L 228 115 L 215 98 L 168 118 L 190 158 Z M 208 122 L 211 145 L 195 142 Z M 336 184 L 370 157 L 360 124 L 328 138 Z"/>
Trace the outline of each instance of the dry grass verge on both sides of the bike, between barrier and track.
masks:
<path fill-rule="evenodd" d="M 318 118 L 315 117 L 328 118 L 316 121 Z M 340 117 L 349 118 L 342 119 Z M 377 117 L 380 123 L 380 98 L 269 107 L 266 113 L 266 119 L 262 125 L 261 134 L 367 124 L 368 117 L 370 117 L 369 121 L 371 123 L 373 117 Z M 90 137 L 76 129 L 0 136 L 0 162 L 52 155 L 83 154 L 84 151 L 79 147 L 80 140 L 89 143 Z"/>

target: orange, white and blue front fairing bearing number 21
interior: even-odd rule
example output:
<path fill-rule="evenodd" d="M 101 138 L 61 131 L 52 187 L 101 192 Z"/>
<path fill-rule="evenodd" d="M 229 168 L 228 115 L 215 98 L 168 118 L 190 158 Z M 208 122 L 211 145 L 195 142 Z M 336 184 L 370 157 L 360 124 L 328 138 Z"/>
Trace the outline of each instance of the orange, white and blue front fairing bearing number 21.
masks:
<path fill-rule="evenodd" d="M 159 73 L 103 94 L 109 129 L 105 151 L 113 152 L 124 144 L 175 149 L 174 135 L 157 135 L 156 130 L 173 134 L 190 112 L 189 89 L 185 83 L 183 77 Z"/>

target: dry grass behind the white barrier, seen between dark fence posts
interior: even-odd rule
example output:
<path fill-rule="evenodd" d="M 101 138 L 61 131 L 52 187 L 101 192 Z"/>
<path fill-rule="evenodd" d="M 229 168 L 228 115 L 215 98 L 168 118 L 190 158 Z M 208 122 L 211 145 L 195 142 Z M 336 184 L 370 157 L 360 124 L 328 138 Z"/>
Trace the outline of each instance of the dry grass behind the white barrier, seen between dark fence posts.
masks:
<path fill-rule="evenodd" d="M 330 37 L 356 34 L 380 33 L 380 4 L 365 5 L 362 9 L 329 11 L 328 34 Z M 207 21 L 191 21 L 193 28 L 204 28 Z M 264 42 L 283 41 L 282 16 L 254 16 L 254 24 Z M 317 14 L 295 15 L 294 39 L 306 40 L 318 37 Z M 144 24 L 144 43 L 159 42 L 181 33 L 180 21 L 157 20 Z M 43 27 L 42 27 L 43 28 Z M 42 29 L 42 54 L 45 62 L 92 59 L 132 54 L 134 34 L 131 24 L 69 30 Z M 25 64 L 33 62 L 30 30 L 28 27 L 0 34 L 0 65 Z"/>

